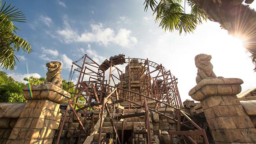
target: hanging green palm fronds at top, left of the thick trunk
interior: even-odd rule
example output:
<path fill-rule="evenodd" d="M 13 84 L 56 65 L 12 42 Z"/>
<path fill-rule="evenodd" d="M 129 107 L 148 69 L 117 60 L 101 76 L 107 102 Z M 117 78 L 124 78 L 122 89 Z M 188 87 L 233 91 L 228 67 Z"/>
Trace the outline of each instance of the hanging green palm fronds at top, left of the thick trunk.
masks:
<path fill-rule="evenodd" d="M 206 20 L 206 14 L 198 8 L 193 2 L 189 1 L 188 5 L 191 6 L 191 14 L 186 14 L 182 0 L 160 0 L 157 3 L 155 0 L 145 0 L 145 11 L 148 7 L 156 14 L 155 23 L 159 23 L 164 31 L 178 30 L 179 34 L 193 32 L 202 20 Z"/>

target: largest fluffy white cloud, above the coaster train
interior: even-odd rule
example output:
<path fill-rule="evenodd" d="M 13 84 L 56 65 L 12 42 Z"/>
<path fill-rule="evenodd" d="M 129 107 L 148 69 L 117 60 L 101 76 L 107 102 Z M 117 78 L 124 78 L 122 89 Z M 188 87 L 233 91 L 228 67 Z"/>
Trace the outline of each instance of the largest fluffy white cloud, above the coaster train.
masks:
<path fill-rule="evenodd" d="M 78 34 L 78 31 L 75 31 L 70 27 L 68 21 L 69 20 L 65 15 L 64 29 L 59 29 L 56 31 L 57 35 L 59 35 L 59 40 L 62 42 L 96 42 L 97 44 L 104 46 L 107 46 L 110 43 L 114 43 L 122 47 L 131 47 L 137 44 L 137 38 L 130 36 L 132 32 L 125 28 L 121 28 L 118 32 L 115 32 L 109 27 L 104 28 L 101 23 L 92 24 L 91 32 L 85 31 L 80 35 Z"/>

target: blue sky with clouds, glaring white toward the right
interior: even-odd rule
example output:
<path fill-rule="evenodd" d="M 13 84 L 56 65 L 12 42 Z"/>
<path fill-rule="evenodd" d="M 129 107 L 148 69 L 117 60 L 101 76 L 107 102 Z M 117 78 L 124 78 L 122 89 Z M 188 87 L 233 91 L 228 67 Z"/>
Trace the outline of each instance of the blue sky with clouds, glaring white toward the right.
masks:
<path fill-rule="evenodd" d="M 4 3 L 5 1 L 2 1 Z M 241 40 L 229 36 L 218 23 L 207 21 L 192 34 L 179 36 L 158 27 L 143 0 L 9 0 L 23 11 L 27 23 L 15 23 L 18 36 L 34 52 L 18 53 L 15 71 L 5 71 L 17 81 L 27 76 L 46 77 L 47 62 L 63 63 L 62 77 L 68 80 L 73 61 L 88 54 L 102 63 L 105 58 L 125 54 L 162 63 L 178 78 L 182 100 L 196 85 L 197 54 L 212 55 L 217 76 L 244 81 L 242 91 L 254 88 L 256 73 Z M 256 7 L 253 3 L 251 7 Z"/>

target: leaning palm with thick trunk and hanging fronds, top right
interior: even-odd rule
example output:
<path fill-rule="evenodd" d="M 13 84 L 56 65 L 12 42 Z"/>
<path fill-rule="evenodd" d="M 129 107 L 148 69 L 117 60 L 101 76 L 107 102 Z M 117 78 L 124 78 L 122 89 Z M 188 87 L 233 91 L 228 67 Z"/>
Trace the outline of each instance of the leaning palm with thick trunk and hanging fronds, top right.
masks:
<path fill-rule="evenodd" d="M 251 53 L 252 62 L 256 66 L 256 11 L 242 4 L 243 0 L 187 0 L 192 10 L 185 14 L 182 0 L 145 0 L 145 11 L 150 7 L 156 14 L 155 22 L 160 21 L 164 31 L 182 29 L 193 32 L 202 20 L 210 19 L 217 22 L 230 35 L 240 36 L 245 42 L 245 48 Z M 251 4 L 253 0 L 246 0 Z M 256 71 L 256 67 L 254 69 Z"/>

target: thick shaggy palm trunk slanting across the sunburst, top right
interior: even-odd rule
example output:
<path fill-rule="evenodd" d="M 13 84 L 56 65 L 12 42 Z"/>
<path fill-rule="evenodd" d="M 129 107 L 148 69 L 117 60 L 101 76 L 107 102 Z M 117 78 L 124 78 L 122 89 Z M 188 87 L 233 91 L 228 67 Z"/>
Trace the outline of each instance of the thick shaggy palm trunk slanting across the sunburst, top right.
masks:
<path fill-rule="evenodd" d="M 256 64 L 256 11 L 243 5 L 243 0 L 192 0 L 206 12 L 209 19 L 218 22 L 230 35 L 241 36 Z M 255 69 L 256 70 L 256 69 Z"/>

